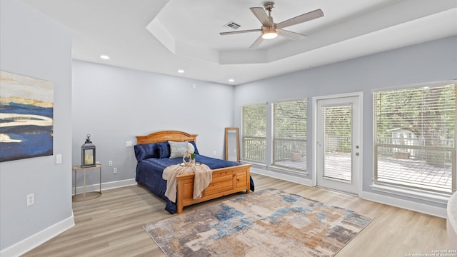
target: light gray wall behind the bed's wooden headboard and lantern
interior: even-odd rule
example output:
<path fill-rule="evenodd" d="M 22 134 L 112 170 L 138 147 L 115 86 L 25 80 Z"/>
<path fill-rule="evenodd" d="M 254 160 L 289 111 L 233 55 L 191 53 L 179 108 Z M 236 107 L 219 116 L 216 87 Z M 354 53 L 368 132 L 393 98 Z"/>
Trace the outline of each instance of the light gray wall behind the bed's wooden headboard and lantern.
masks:
<path fill-rule="evenodd" d="M 134 148 L 126 148 L 126 141 L 136 144 L 135 136 L 162 130 L 199 134 L 201 154 L 224 158 L 224 128 L 233 125 L 233 90 L 228 85 L 74 61 L 72 163 L 81 163 L 81 145 L 90 133 L 96 161 L 103 165 L 102 183 L 134 179 Z M 98 183 L 98 173 L 88 176 L 89 185 Z M 76 180 L 80 186 L 82 178 Z"/>

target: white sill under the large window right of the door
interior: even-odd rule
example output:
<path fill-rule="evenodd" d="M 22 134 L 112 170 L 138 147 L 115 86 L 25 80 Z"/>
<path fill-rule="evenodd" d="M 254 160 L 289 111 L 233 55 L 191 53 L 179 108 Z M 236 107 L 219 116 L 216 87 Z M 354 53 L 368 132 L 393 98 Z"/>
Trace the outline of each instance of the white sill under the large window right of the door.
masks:
<path fill-rule="evenodd" d="M 431 201 L 434 203 L 448 203 L 449 198 L 451 195 L 446 193 L 438 193 L 438 192 L 431 192 L 431 191 L 424 191 L 415 188 L 407 188 L 403 186 L 394 186 L 391 184 L 385 183 L 373 183 L 371 185 L 371 189 L 373 191 L 381 191 L 384 193 L 393 193 L 400 196 L 407 196 L 411 198 L 416 198 L 419 200 L 424 201 Z"/>

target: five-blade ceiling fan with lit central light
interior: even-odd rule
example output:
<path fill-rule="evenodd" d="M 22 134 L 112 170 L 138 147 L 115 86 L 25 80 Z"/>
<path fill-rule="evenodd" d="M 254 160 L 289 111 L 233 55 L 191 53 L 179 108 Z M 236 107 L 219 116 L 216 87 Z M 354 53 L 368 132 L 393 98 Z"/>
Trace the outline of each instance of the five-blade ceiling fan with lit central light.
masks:
<path fill-rule="evenodd" d="M 286 21 L 282 21 L 278 24 L 273 22 L 273 17 L 271 16 L 271 11 L 274 9 L 274 3 L 271 1 L 267 1 L 265 4 L 263 4 L 262 7 L 251 7 L 252 13 L 258 21 L 261 22 L 262 28 L 261 29 L 248 29 L 248 30 L 243 30 L 243 31 L 229 31 L 229 32 L 221 32 L 219 34 L 221 35 L 230 35 L 230 34 L 240 34 L 240 33 L 248 33 L 248 32 L 257 32 L 260 31 L 261 35 L 256 39 L 256 41 L 253 42 L 253 44 L 249 48 L 256 48 L 259 46 L 263 39 L 274 39 L 276 36 L 283 36 L 286 39 L 291 39 L 291 40 L 299 40 L 299 39 L 305 39 L 306 36 L 303 34 L 298 34 L 292 31 L 286 31 L 283 28 L 286 28 L 288 26 L 296 25 L 296 24 L 301 24 L 306 21 L 311 21 L 313 19 L 317 19 L 323 16 L 323 12 L 321 9 L 317 9 L 314 11 L 310 11 L 306 14 L 301 14 L 296 17 L 293 17 L 291 19 L 288 19 Z M 265 9 L 268 11 L 268 16 L 266 15 L 266 12 L 263 11 Z"/>

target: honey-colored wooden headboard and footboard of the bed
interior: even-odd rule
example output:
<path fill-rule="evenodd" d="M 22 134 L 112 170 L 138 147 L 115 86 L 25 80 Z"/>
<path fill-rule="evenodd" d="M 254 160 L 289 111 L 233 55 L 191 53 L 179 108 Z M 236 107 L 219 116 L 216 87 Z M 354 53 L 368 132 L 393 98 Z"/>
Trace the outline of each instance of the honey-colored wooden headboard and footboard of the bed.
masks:
<path fill-rule="evenodd" d="M 136 143 L 159 143 L 164 141 L 194 141 L 196 143 L 197 136 L 182 131 L 159 131 L 147 136 L 136 136 Z M 250 168 L 251 164 L 242 164 L 213 170 L 213 180 L 199 199 L 193 198 L 194 174 L 176 176 L 176 212 L 182 213 L 185 206 L 227 196 L 231 193 L 241 191 L 250 193 Z"/>

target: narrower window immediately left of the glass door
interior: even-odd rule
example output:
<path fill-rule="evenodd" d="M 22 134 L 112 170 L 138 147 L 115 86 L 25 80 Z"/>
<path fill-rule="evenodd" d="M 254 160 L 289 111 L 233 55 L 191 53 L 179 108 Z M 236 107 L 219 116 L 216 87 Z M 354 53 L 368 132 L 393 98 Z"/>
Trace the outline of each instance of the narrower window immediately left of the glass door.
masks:
<path fill-rule="evenodd" d="M 271 104 L 273 165 L 306 171 L 306 100 Z"/>

